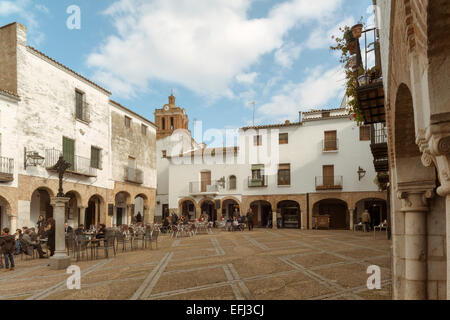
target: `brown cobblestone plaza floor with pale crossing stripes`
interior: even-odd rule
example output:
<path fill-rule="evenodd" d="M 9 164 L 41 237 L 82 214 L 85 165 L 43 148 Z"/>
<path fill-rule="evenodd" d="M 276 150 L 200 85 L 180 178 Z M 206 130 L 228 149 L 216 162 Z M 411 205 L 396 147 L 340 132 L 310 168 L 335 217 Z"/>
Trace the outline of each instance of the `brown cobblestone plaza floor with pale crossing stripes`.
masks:
<path fill-rule="evenodd" d="M 299 300 L 391 299 L 385 234 L 255 229 L 191 238 L 160 237 L 158 249 L 75 262 L 81 290 L 48 260 L 16 257 L 0 273 L 0 299 Z M 382 289 L 368 290 L 367 267 L 381 268 Z"/>

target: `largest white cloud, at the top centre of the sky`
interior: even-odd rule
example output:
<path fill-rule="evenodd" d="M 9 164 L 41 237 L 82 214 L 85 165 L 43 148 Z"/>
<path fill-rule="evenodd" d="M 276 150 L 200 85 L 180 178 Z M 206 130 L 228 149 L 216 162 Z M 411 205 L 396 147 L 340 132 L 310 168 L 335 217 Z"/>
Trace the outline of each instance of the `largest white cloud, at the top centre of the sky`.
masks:
<path fill-rule="evenodd" d="M 127 84 L 122 95 L 156 80 L 232 96 L 237 75 L 282 48 L 292 28 L 326 19 L 341 2 L 285 0 L 267 17 L 249 19 L 251 0 L 119 0 L 104 12 L 116 34 L 89 56 L 88 65 L 107 87 Z"/>

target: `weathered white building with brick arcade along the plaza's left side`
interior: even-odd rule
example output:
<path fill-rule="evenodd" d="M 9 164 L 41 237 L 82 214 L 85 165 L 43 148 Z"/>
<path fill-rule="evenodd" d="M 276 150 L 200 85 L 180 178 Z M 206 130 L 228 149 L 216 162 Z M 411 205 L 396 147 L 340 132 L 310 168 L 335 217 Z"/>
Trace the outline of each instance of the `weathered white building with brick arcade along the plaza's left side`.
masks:
<path fill-rule="evenodd" d="M 51 217 L 64 177 L 72 226 L 153 222 L 156 126 L 110 99 L 111 93 L 27 46 L 26 28 L 0 27 L 1 226 L 34 226 Z"/>

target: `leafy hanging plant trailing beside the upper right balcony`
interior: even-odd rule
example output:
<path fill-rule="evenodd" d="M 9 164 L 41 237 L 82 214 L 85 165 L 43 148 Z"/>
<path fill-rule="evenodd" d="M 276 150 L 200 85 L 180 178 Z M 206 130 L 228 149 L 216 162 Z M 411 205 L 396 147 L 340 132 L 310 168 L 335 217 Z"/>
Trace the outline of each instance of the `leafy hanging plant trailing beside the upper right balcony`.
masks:
<path fill-rule="evenodd" d="M 361 18 L 362 20 L 362 18 Z M 361 22 L 359 24 L 362 24 Z M 335 46 L 331 46 L 332 51 L 340 51 L 341 56 L 339 62 L 344 66 L 346 76 L 346 90 L 345 94 L 348 97 L 348 106 L 350 108 L 350 114 L 358 125 L 364 122 L 363 114 L 359 109 L 358 96 L 356 88 L 358 84 L 358 77 L 364 75 L 364 69 L 359 66 L 356 70 L 355 54 L 357 53 L 357 41 L 354 37 L 352 30 L 349 26 L 339 28 L 342 33 L 342 37 L 332 36 L 332 39 L 336 41 Z"/>

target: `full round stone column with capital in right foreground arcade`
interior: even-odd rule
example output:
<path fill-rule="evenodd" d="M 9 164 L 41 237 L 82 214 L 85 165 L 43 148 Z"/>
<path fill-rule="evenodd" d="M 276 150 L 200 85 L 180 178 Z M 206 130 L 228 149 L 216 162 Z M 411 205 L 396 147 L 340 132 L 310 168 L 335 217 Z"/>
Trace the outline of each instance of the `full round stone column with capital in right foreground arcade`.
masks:
<path fill-rule="evenodd" d="M 405 299 L 427 299 L 427 199 L 431 190 L 399 191 L 405 213 Z"/>

